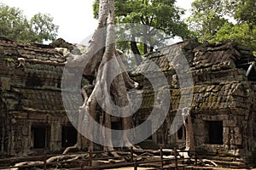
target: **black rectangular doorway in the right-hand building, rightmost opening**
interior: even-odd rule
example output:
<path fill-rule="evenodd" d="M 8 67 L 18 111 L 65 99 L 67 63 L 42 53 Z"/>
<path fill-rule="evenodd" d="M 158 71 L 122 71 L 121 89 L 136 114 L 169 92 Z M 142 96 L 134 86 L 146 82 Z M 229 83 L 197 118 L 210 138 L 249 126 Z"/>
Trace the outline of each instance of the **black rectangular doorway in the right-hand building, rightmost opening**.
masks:
<path fill-rule="evenodd" d="M 223 144 L 223 122 L 207 121 L 208 144 Z"/>

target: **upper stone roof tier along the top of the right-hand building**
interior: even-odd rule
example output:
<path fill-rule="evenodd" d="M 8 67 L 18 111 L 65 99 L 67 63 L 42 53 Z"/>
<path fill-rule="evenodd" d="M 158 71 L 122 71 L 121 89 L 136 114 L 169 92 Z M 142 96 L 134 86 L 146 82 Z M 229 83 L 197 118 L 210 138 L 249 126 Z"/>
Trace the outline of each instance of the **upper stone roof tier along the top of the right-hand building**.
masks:
<path fill-rule="evenodd" d="M 220 71 L 254 61 L 253 53 L 236 42 L 200 44 L 195 41 L 188 41 L 179 42 L 146 54 L 143 63 L 137 67 L 136 72 L 157 71 L 154 64 L 158 65 L 161 71 L 170 71 L 173 69 L 173 63 L 168 62 L 168 60 L 177 59 L 180 55 L 186 57 L 192 70 L 208 68 Z"/>

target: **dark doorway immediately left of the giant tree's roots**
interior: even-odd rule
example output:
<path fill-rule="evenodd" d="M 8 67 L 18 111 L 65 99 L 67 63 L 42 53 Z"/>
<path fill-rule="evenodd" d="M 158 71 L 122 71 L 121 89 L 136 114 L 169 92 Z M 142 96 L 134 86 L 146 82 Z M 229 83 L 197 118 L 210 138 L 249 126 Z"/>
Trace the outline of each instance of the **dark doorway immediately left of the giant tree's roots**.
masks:
<path fill-rule="evenodd" d="M 78 131 L 73 126 L 61 127 L 61 147 L 66 148 L 77 143 Z"/>

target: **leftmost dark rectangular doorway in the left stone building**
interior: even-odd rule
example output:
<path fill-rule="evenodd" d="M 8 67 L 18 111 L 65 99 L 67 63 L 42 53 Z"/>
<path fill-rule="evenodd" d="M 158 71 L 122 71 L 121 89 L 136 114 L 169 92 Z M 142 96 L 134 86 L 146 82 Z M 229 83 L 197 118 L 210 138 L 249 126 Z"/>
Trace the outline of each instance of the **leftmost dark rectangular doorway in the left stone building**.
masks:
<path fill-rule="evenodd" d="M 44 149 L 49 145 L 49 127 L 32 127 L 32 148 Z"/>

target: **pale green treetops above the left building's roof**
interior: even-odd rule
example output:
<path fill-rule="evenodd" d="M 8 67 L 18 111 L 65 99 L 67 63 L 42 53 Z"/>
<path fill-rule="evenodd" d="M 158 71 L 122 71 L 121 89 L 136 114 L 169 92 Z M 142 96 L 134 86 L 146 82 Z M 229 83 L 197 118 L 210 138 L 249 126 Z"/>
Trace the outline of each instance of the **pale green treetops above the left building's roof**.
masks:
<path fill-rule="evenodd" d="M 18 42 L 42 43 L 54 40 L 58 26 L 52 21 L 49 14 L 35 14 L 31 20 L 27 20 L 20 8 L 0 3 L 0 36 Z"/>

